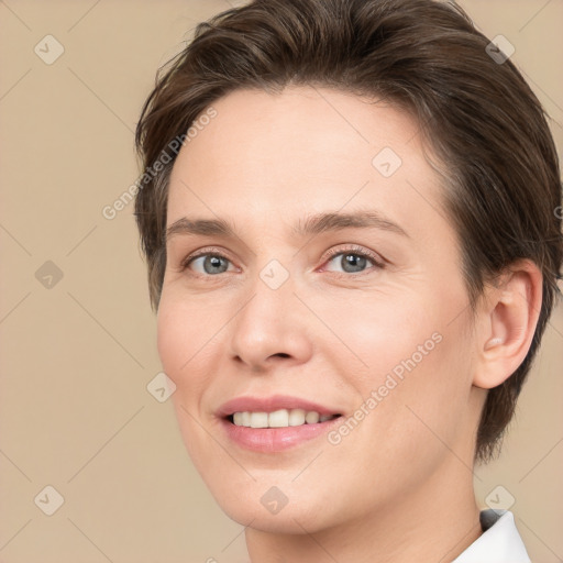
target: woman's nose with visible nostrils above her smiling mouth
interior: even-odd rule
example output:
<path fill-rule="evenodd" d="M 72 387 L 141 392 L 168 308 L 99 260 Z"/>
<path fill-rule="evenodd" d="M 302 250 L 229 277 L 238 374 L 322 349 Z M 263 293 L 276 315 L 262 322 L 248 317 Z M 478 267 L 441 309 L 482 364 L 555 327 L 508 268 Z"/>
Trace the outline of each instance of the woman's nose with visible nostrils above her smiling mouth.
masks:
<path fill-rule="evenodd" d="M 276 287 L 267 273 L 256 275 L 249 288 L 250 297 L 230 323 L 229 340 L 231 357 L 261 373 L 280 362 L 307 362 L 312 352 L 312 319 L 295 294 L 291 276 Z"/>

